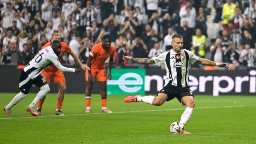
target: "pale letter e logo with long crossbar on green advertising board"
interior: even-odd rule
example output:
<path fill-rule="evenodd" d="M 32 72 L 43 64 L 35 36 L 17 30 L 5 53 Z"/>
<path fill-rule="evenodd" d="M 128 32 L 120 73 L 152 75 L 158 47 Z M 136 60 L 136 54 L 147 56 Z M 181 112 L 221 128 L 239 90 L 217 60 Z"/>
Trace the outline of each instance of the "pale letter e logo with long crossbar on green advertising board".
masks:
<path fill-rule="evenodd" d="M 128 78 L 135 80 L 126 80 Z M 107 81 L 107 85 L 118 85 L 124 92 L 138 92 L 142 88 L 141 86 L 127 87 L 126 85 L 143 85 L 143 83 L 143 79 L 137 73 L 125 73 L 118 80 Z"/>

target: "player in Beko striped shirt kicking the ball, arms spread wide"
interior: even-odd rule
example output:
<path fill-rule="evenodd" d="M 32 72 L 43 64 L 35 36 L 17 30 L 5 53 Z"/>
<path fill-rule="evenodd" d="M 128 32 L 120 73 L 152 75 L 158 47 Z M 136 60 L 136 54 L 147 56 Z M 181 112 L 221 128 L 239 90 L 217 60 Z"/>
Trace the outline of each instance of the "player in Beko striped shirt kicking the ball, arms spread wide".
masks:
<path fill-rule="evenodd" d="M 165 85 L 160 90 L 157 97 L 140 95 L 129 96 L 124 99 L 124 102 L 144 102 L 155 106 L 161 106 L 165 101 L 170 101 L 175 97 L 181 103 L 181 106 L 186 106 L 186 110 L 181 116 L 180 123 L 186 125 L 191 118 L 194 109 L 194 94 L 188 86 L 188 63 L 189 61 L 206 66 L 219 66 L 221 68 L 229 68 L 226 63 L 216 63 L 208 59 L 201 59 L 191 51 L 182 49 L 183 36 L 174 34 L 171 38 L 173 48 L 169 51 L 162 52 L 151 59 L 137 59 L 123 56 L 124 61 L 133 61 L 138 64 L 162 64 L 164 63 L 169 76 L 165 79 Z M 191 134 L 184 130 L 183 134 Z"/>

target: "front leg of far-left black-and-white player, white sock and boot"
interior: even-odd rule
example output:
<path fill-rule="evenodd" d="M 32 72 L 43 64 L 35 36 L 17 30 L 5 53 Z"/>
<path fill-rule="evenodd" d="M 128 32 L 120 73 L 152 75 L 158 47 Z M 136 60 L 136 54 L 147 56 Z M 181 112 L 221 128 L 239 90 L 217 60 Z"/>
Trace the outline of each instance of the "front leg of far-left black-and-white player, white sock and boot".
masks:
<path fill-rule="evenodd" d="M 40 86 L 39 86 L 40 87 Z M 50 87 L 49 85 L 46 83 L 46 85 L 43 85 L 40 87 L 40 91 L 38 92 L 38 94 L 36 95 L 35 99 L 33 100 L 33 102 L 27 106 L 26 110 L 31 113 L 33 116 L 38 116 L 38 113 L 36 113 L 34 107 L 36 106 L 36 104 L 43 99 L 43 97 L 50 91 Z"/>

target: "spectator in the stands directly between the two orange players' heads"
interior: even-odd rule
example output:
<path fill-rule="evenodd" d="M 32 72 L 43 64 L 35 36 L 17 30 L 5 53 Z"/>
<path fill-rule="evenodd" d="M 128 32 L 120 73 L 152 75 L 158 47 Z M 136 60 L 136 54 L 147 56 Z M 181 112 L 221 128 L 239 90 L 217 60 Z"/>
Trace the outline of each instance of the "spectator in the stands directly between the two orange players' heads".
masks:
<path fill-rule="evenodd" d="M 89 52 L 90 50 L 92 50 L 92 45 L 89 44 L 89 38 L 87 37 L 85 37 L 82 42 L 83 42 L 83 46 L 80 49 L 80 60 L 82 64 L 86 64 L 87 59 L 89 57 Z"/>

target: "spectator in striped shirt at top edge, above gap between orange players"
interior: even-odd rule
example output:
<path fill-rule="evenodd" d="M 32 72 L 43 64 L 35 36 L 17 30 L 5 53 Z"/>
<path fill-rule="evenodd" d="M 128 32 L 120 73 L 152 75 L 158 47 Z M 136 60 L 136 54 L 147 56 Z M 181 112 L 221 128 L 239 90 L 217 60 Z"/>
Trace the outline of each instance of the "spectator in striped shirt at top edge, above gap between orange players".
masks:
<path fill-rule="evenodd" d="M 86 9 L 85 9 L 85 11 L 83 12 L 82 15 L 86 18 L 85 26 L 91 26 L 92 21 L 95 20 L 94 17 L 97 17 L 96 10 L 93 7 L 91 1 L 89 1 L 89 0 L 87 1 L 87 7 L 86 7 Z"/>

